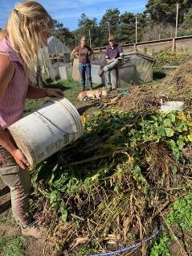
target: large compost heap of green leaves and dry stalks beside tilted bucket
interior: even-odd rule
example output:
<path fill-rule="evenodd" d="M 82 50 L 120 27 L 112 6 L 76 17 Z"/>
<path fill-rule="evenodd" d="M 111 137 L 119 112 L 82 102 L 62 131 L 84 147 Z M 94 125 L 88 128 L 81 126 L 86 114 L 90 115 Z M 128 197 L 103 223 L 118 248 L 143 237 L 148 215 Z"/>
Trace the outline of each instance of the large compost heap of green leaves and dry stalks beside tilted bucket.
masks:
<path fill-rule="evenodd" d="M 146 105 L 153 95 L 190 105 L 189 64 L 177 72 L 136 89 L 140 96 L 126 110 L 121 101 L 121 111 L 82 116 L 84 136 L 35 167 L 34 210 L 50 230 L 53 254 L 89 255 L 138 241 L 144 254 L 161 213 L 191 192 L 190 108 L 162 114 Z"/>

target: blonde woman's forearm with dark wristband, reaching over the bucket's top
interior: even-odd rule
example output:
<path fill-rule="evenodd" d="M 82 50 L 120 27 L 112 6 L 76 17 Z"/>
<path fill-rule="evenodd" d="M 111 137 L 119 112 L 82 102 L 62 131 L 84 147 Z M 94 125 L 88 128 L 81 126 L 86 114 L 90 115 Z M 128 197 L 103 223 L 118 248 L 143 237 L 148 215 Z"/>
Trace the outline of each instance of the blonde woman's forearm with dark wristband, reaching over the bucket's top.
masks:
<path fill-rule="evenodd" d="M 52 89 L 52 88 L 36 88 L 29 85 L 27 92 L 28 99 L 40 99 L 43 97 L 63 97 L 64 94 L 61 89 Z"/>

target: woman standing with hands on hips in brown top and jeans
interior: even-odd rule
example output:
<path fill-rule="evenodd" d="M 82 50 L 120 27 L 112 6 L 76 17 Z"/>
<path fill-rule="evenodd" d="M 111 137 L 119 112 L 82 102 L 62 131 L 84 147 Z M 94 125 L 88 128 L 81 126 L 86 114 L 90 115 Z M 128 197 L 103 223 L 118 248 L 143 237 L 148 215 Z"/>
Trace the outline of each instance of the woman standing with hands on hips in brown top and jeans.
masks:
<path fill-rule="evenodd" d="M 88 79 L 89 89 L 92 89 L 92 66 L 90 64 L 89 56 L 93 53 L 92 48 L 86 45 L 86 39 L 84 36 L 80 39 L 80 46 L 72 50 L 71 54 L 76 55 L 79 58 L 79 70 L 80 70 L 80 79 L 82 91 L 85 89 L 85 73 Z"/>

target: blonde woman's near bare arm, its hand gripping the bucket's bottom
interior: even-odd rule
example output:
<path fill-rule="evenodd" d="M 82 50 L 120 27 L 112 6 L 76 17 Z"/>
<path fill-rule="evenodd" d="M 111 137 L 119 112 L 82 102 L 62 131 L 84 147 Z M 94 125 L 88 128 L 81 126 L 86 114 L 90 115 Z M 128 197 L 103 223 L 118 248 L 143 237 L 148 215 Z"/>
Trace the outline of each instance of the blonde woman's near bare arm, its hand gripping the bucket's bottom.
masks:
<path fill-rule="evenodd" d="M 0 54 L 0 102 L 6 92 L 11 79 L 14 76 L 14 63 L 10 61 L 9 57 Z M 0 126 L 0 145 L 13 155 L 14 160 L 18 163 L 19 167 L 25 169 L 29 166 L 27 159 L 22 155 L 22 152 L 10 141 Z"/>

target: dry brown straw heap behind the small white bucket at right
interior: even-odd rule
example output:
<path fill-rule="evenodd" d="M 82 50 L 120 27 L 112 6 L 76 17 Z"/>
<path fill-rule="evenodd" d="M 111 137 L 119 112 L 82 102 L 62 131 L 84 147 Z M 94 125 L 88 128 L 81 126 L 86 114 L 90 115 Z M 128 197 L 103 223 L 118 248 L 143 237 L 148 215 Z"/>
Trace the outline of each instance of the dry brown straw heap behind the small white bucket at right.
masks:
<path fill-rule="evenodd" d="M 157 109 L 161 101 L 184 101 L 191 106 L 192 60 L 182 64 L 172 75 L 161 83 L 134 86 L 129 95 L 124 96 L 119 107 L 133 111 Z"/>

